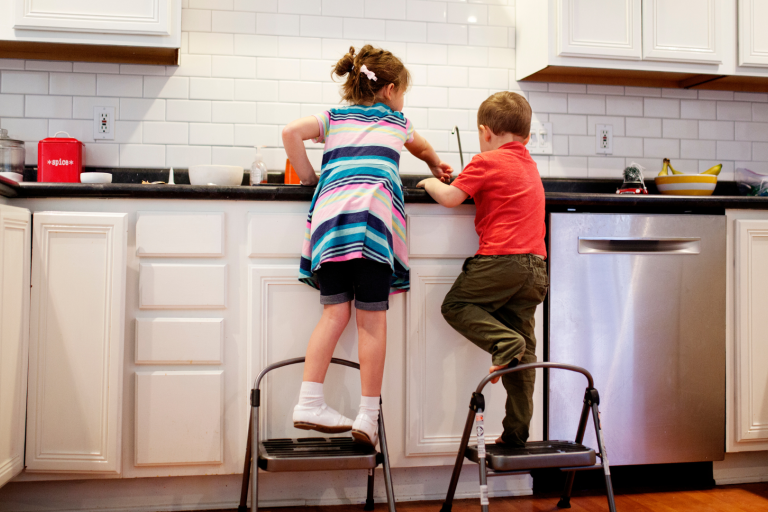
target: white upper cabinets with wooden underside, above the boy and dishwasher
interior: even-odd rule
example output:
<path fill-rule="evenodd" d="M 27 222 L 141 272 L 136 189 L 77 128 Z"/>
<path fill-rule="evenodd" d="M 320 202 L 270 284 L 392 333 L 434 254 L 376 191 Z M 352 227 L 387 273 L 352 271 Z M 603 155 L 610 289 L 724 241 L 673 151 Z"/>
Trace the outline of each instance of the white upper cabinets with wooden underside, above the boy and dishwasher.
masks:
<path fill-rule="evenodd" d="M 541 0 L 515 9 L 517 80 L 768 92 L 768 0 Z"/>

